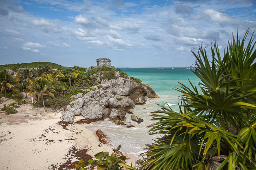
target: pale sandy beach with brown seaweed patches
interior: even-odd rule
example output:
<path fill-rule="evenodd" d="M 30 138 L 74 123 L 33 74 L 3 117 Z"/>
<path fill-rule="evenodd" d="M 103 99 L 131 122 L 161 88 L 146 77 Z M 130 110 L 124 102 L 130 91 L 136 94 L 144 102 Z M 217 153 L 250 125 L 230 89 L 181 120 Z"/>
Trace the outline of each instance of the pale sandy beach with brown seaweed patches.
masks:
<path fill-rule="evenodd" d="M 0 108 L 10 102 L 13 100 L 4 101 Z M 50 108 L 45 112 L 44 108 L 32 109 L 31 104 L 26 104 L 20 105 L 17 111 L 11 115 L 0 111 L 1 170 L 72 169 L 71 165 L 80 159 L 88 161 L 102 151 L 113 153 L 112 148 L 99 141 L 95 132 L 84 128 L 91 121 L 82 116 L 76 116 L 75 123 L 69 124 L 60 120 L 60 112 L 51 112 Z M 130 162 L 134 165 L 139 159 L 134 154 L 123 155 L 130 158 L 128 165 Z"/>

